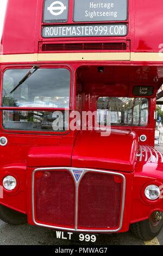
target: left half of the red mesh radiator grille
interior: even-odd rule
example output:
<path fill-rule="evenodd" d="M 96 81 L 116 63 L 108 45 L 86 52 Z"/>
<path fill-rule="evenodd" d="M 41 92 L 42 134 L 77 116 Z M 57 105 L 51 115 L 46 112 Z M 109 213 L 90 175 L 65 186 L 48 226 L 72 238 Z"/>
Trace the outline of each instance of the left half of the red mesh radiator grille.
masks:
<path fill-rule="evenodd" d="M 74 201 L 75 188 L 70 173 L 64 170 L 46 171 L 41 178 L 35 178 L 37 221 L 73 227 Z"/>

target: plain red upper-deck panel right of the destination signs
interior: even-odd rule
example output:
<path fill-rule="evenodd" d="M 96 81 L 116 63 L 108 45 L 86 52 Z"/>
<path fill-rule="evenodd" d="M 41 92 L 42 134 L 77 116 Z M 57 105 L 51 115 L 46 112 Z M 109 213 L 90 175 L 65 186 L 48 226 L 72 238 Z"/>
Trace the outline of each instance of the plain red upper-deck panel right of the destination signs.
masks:
<path fill-rule="evenodd" d="M 159 52 L 163 44 L 162 0 L 132 2 L 131 52 Z"/>

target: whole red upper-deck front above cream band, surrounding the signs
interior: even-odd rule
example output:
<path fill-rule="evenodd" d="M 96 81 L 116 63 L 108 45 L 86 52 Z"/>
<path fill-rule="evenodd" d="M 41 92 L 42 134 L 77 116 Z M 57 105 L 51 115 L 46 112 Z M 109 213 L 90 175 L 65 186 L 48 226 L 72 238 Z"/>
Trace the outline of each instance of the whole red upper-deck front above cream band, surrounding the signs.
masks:
<path fill-rule="evenodd" d="M 163 44 L 162 7 L 162 0 L 129 0 L 129 19 L 124 22 L 129 24 L 128 35 L 121 36 L 118 40 L 130 40 L 131 52 L 158 52 L 159 45 Z M 117 40 L 117 37 L 43 39 L 42 12 L 43 0 L 8 0 L 2 40 L 4 54 L 37 52 L 39 41 Z M 70 0 L 68 24 L 73 23 L 72 12 L 73 0 Z"/>

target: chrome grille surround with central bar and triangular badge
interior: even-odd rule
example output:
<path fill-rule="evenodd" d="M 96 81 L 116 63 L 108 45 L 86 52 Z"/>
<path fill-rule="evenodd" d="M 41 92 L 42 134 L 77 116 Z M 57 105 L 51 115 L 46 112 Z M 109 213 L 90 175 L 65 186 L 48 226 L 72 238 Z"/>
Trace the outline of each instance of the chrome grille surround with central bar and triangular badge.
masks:
<path fill-rule="evenodd" d="M 34 207 L 34 174 L 37 171 L 45 171 L 45 170 L 68 170 L 71 175 L 74 178 L 75 182 L 75 187 L 76 187 L 76 202 L 75 202 L 75 228 L 64 228 L 64 227 L 56 227 L 53 225 L 47 225 L 47 224 L 42 224 L 38 223 L 35 221 L 35 207 Z M 80 178 L 76 180 L 76 177 L 73 173 L 74 170 L 80 170 L 83 171 L 82 174 L 80 175 Z M 78 189 L 79 189 L 79 183 L 80 180 L 83 178 L 83 176 L 87 172 L 95 172 L 95 173 L 103 173 L 103 174 L 111 174 L 111 175 L 117 175 L 120 176 L 123 180 L 123 187 L 122 187 L 122 200 L 121 200 L 121 216 L 120 216 L 120 225 L 117 229 L 78 229 Z M 126 191 L 126 178 L 123 174 L 117 173 L 117 172 L 110 172 L 110 171 L 105 171 L 105 170 L 99 170 L 99 169 L 88 169 L 88 168 L 73 168 L 73 167 L 51 167 L 51 168 L 36 168 L 33 171 L 32 174 L 32 216 L 33 216 L 33 222 L 36 225 L 39 225 L 41 227 L 47 227 L 47 228 L 53 228 L 53 229 L 59 229 L 59 230 L 67 230 L 67 231 L 82 231 L 82 232 L 91 232 L 91 233 L 114 233 L 117 232 L 121 229 L 122 227 L 122 221 L 123 221 L 123 212 L 124 212 L 124 199 L 125 199 L 125 191 Z"/>

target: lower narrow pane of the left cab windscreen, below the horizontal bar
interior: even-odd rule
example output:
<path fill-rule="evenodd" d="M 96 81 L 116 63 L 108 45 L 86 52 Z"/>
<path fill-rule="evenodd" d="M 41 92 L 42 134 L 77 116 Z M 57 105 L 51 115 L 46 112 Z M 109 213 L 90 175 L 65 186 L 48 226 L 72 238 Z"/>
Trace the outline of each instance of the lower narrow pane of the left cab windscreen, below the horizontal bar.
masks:
<path fill-rule="evenodd" d="M 69 129 L 69 111 L 3 111 L 5 130 L 60 131 Z"/>

